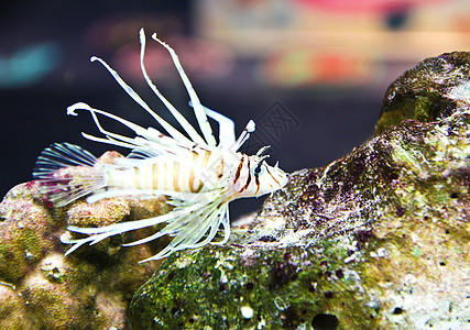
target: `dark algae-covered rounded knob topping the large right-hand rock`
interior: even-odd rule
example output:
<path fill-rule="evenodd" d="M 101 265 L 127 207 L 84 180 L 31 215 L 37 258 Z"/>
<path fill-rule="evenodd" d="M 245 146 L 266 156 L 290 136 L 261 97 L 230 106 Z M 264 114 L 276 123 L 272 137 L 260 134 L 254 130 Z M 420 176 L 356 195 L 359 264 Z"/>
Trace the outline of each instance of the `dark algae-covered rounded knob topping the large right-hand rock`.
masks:
<path fill-rule="evenodd" d="M 404 119 L 423 122 L 450 116 L 459 100 L 470 101 L 470 53 L 453 52 L 423 61 L 387 89 L 375 132 Z"/>

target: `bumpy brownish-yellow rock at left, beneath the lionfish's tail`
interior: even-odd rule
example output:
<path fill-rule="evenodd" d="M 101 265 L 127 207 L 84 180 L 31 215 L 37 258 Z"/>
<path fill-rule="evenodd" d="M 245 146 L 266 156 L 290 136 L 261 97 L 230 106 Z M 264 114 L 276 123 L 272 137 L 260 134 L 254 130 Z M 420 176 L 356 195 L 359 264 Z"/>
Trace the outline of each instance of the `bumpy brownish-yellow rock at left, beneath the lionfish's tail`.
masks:
<path fill-rule="evenodd" d="M 101 160 L 116 157 L 105 154 Z M 167 211 L 162 200 L 110 199 L 47 208 L 31 182 L 0 204 L 0 329 L 124 329 L 132 294 L 160 263 L 138 264 L 159 246 L 123 248 L 114 237 L 64 257 L 66 224 L 97 227 Z M 112 328 L 113 327 L 113 328 Z"/>

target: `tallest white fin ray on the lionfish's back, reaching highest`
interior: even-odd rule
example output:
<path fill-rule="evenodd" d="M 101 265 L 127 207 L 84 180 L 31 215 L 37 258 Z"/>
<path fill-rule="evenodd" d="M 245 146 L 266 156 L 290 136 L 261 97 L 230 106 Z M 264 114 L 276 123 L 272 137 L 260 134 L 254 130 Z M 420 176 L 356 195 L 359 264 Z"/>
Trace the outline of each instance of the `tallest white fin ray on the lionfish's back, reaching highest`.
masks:
<path fill-rule="evenodd" d="M 168 109 L 170 112 L 173 114 L 173 117 L 178 121 L 178 123 L 186 131 L 186 133 L 189 135 L 193 142 L 200 145 L 207 145 L 204 139 L 190 125 L 190 123 L 186 120 L 186 118 L 184 118 L 183 114 L 181 114 L 179 111 L 176 110 L 176 108 L 160 92 L 160 90 L 150 79 L 143 62 L 144 54 L 145 54 L 145 33 L 143 28 L 140 30 L 139 35 L 140 35 L 140 42 L 141 42 L 140 64 L 141 64 L 141 70 L 142 70 L 143 77 L 145 78 L 146 84 L 152 89 L 152 91 L 159 97 L 159 99 L 165 105 L 166 109 Z"/>

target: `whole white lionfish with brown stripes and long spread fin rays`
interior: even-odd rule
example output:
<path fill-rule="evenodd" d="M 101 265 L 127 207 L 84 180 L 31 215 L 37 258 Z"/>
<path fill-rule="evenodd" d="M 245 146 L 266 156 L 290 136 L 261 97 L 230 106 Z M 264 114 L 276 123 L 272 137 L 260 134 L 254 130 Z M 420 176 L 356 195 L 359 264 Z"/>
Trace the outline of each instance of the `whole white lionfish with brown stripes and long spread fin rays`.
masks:
<path fill-rule="evenodd" d="M 114 234 L 166 223 L 161 231 L 142 240 L 125 244 L 136 245 L 163 235 L 173 235 L 173 241 L 156 255 L 145 260 L 159 260 L 172 252 L 195 249 L 210 243 L 220 227 L 227 242 L 230 233 L 228 204 L 237 198 L 258 197 L 283 188 L 287 183 L 286 174 L 275 166 L 266 164 L 263 155 L 267 147 L 256 155 L 248 156 L 238 150 L 254 131 L 251 120 L 238 139 L 233 121 L 200 105 L 179 59 L 173 48 L 152 36 L 163 45 L 172 56 L 186 90 L 189 105 L 194 109 L 201 135 L 163 97 L 146 74 L 144 66 L 145 34 L 140 31 L 142 74 L 149 87 L 165 105 L 182 125 L 186 135 L 156 114 L 139 95 L 101 58 L 100 62 L 124 91 L 138 102 L 166 131 L 163 134 L 154 128 L 144 129 L 125 119 L 78 102 L 67 108 L 67 114 L 77 116 L 77 111 L 91 114 L 98 130 L 105 138 L 83 133 L 89 140 L 128 147 L 131 153 L 125 158 L 113 160 L 112 164 L 99 162 L 89 152 L 77 145 L 55 143 L 39 156 L 33 176 L 42 182 L 42 190 L 56 207 L 87 196 L 88 202 L 113 197 L 156 197 L 166 196 L 174 209 L 163 216 L 119 222 L 101 228 L 80 228 L 69 226 L 73 232 L 88 234 L 85 239 L 66 239 L 64 243 L 74 244 L 66 254 L 85 243 L 95 244 Z M 135 138 L 128 138 L 107 131 L 101 127 L 99 117 L 107 117 L 133 130 Z M 219 124 L 219 142 L 212 134 L 208 117 Z M 67 173 L 74 166 L 75 172 Z M 78 170 L 84 168 L 84 170 Z M 79 174 L 78 174 L 79 173 Z M 143 262 L 145 262 L 143 261 Z"/>

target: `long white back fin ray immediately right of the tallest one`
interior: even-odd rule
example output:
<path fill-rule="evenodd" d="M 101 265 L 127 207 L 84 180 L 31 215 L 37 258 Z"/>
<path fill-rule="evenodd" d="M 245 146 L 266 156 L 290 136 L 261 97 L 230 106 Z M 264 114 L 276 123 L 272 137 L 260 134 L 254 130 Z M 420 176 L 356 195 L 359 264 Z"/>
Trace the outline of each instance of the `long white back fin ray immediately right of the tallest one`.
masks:
<path fill-rule="evenodd" d="M 166 43 L 157 38 L 156 33 L 152 34 L 152 38 L 155 40 L 157 43 L 160 43 L 162 46 L 164 46 L 168 51 L 170 55 L 172 56 L 173 63 L 175 64 L 176 69 L 178 70 L 179 77 L 182 78 L 183 84 L 185 85 L 186 90 L 189 95 L 189 99 L 194 105 L 194 113 L 196 116 L 197 122 L 199 123 L 199 128 L 203 132 L 204 139 L 206 139 L 207 144 L 209 146 L 215 147 L 217 143 L 212 134 L 212 129 L 210 128 L 209 121 L 207 120 L 206 112 L 204 111 L 204 108 L 200 105 L 199 98 L 197 97 L 197 94 L 194 90 L 193 85 L 190 84 L 188 77 L 186 76 L 185 70 L 183 69 L 178 55 L 176 55 L 175 51 L 171 46 L 168 46 Z"/>

